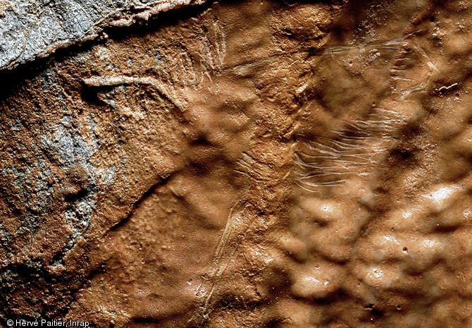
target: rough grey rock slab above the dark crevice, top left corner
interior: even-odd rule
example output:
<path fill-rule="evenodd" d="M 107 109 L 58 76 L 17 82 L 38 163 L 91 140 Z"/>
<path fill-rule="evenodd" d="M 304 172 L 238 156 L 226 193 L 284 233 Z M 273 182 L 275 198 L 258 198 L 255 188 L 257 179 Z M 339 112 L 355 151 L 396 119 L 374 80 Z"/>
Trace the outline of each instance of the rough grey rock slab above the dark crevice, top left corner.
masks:
<path fill-rule="evenodd" d="M 0 70 L 204 0 L 0 0 Z"/>

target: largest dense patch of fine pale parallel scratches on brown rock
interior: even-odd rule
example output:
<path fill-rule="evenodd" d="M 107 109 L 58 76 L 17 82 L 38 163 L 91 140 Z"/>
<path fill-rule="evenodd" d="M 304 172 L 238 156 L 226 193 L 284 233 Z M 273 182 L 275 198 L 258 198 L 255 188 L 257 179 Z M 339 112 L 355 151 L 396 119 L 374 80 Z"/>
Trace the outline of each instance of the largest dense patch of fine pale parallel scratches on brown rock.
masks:
<path fill-rule="evenodd" d="M 345 121 L 344 128 L 330 133 L 333 138 L 319 136 L 307 140 L 304 150 L 294 157 L 295 183 L 314 192 L 319 188 L 340 186 L 353 174 L 367 175 L 375 167 L 375 156 L 387 151 L 380 144 L 391 139 L 401 124 L 402 119 L 395 111 L 375 108 L 365 119 Z M 369 148 L 372 145 L 375 151 Z"/>

